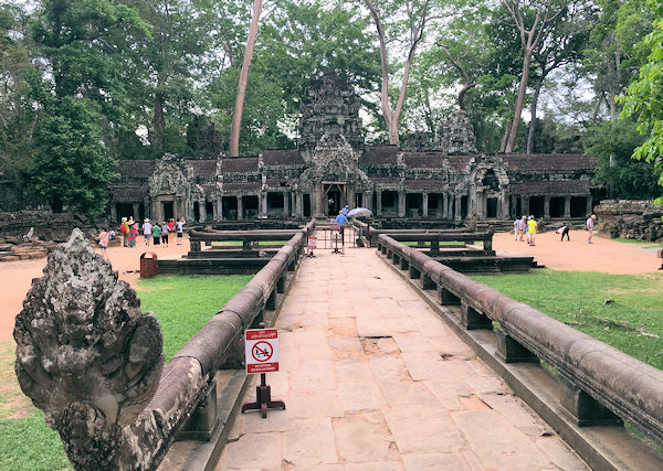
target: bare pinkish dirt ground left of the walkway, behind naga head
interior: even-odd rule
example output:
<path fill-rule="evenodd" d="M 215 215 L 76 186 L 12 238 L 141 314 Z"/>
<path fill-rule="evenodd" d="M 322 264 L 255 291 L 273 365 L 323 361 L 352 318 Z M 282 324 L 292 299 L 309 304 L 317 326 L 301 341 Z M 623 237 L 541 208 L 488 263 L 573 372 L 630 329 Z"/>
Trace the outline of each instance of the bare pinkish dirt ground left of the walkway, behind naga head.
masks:
<path fill-rule="evenodd" d="M 118 271 L 119 279 L 127 281 L 134 287 L 139 276 L 135 271 L 140 268 L 140 255 L 146 251 L 141 239 L 137 244 L 138 246 L 135 248 L 108 248 L 108 257 L 110 258 L 113 269 Z M 168 247 L 157 246 L 148 247 L 148 249 L 155 251 L 158 258 L 175 257 L 189 251 L 189 239 L 185 238 L 182 245 L 176 245 L 173 242 Z M 101 254 L 101 250 L 96 249 L 96 251 Z M 45 265 L 45 258 L 4 261 L 0 264 L 0 287 L 2 293 L 2 302 L 0 303 L 0 342 L 13 341 L 14 318 L 22 309 L 23 299 L 32 285 L 32 279 L 43 275 L 42 270 Z"/>

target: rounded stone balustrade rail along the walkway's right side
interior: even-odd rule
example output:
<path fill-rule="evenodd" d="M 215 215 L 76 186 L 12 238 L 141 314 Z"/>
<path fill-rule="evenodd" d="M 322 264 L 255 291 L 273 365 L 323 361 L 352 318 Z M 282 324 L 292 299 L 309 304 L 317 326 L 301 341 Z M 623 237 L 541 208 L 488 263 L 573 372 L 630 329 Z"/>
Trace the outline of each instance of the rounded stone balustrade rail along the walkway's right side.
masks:
<path fill-rule="evenodd" d="M 461 307 L 461 324 L 493 329 L 504 363 L 545 361 L 559 377 L 562 410 L 577 426 L 622 425 L 625 420 L 663 443 L 663 371 L 556 321 L 523 302 L 472 280 L 421 250 L 385 234 L 378 253 L 423 290 L 436 290 L 443 306 Z"/>

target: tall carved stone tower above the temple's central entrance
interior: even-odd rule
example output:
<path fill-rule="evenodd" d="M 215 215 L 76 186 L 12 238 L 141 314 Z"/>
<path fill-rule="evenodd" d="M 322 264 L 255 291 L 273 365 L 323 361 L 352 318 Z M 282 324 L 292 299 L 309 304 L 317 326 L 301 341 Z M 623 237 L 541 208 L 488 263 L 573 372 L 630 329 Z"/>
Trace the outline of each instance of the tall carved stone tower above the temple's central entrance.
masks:
<path fill-rule="evenodd" d="M 324 135 L 343 135 L 356 151 L 364 147 L 359 99 L 336 71 L 327 69 L 311 82 L 302 98 L 301 113 L 299 149 L 305 161 Z"/>

